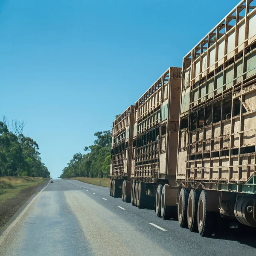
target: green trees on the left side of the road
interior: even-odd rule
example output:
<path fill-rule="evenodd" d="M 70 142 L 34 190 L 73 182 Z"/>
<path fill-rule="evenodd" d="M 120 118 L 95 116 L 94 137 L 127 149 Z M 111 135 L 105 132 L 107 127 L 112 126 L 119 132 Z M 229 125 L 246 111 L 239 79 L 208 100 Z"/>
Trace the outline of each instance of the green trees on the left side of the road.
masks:
<path fill-rule="evenodd" d="M 50 172 L 41 162 L 39 146 L 22 134 L 25 123 L 12 121 L 11 131 L 6 118 L 0 121 L 0 176 L 49 178 Z"/>

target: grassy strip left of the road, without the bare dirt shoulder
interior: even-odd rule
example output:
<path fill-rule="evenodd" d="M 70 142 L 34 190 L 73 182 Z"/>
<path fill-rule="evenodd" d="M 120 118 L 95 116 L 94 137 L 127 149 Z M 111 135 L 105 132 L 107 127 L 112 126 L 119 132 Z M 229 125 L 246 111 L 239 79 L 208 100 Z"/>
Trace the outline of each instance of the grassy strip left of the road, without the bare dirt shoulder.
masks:
<path fill-rule="evenodd" d="M 45 178 L 38 177 L 0 177 L 0 207 L 7 199 L 15 197 L 23 189 L 42 183 Z"/>

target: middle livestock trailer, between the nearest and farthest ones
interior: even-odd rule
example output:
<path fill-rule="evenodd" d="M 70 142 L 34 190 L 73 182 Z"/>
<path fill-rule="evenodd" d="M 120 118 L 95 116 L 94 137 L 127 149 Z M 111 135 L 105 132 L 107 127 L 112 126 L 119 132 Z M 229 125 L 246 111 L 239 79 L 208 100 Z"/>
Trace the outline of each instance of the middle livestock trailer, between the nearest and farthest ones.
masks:
<path fill-rule="evenodd" d="M 176 216 L 181 68 L 170 67 L 135 104 L 131 203 Z M 162 214 L 161 214 L 162 210 Z"/>

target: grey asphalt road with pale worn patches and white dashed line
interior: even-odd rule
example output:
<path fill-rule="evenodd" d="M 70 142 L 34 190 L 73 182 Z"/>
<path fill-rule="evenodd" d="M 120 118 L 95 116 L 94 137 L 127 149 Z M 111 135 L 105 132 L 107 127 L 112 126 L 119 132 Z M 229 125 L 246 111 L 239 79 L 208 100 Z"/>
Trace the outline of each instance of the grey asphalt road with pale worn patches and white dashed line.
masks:
<path fill-rule="evenodd" d="M 78 180 L 49 183 L 2 232 L 0 255 L 256 255 L 252 235 L 203 238 L 108 190 Z"/>

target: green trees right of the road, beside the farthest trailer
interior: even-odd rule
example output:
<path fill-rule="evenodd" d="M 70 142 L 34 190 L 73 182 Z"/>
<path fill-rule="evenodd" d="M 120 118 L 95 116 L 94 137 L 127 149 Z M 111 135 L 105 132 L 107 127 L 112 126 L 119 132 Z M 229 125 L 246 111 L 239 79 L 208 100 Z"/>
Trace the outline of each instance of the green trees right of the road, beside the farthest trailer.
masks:
<path fill-rule="evenodd" d="M 109 177 L 111 162 L 111 131 L 97 131 L 93 145 L 84 148 L 86 154 L 77 153 L 62 170 L 61 178 Z"/>

